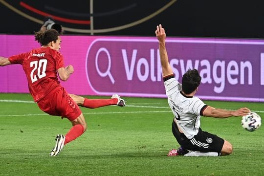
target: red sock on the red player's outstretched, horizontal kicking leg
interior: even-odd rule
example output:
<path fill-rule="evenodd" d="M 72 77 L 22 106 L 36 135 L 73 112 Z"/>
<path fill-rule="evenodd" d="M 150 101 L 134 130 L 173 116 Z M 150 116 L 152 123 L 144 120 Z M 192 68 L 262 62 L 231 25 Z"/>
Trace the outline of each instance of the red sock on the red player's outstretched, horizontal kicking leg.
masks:
<path fill-rule="evenodd" d="M 88 99 L 85 98 L 84 104 L 82 107 L 86 108 L 99 108 L 99 107 L 104 107 L 104 106 L 109 106 L 109 105 L 116 105 L 117 103 L 117 98 L 111 98 L 111 99 Z"/>

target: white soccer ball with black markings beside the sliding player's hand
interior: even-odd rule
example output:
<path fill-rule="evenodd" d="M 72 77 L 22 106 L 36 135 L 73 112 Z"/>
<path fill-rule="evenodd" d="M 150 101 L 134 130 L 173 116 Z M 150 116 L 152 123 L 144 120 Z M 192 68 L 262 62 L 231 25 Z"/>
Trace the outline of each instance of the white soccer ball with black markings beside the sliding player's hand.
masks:
<path fill-rule="evenodd" d="M 248 115 L 242 116 L 241 125 L 245 130 L 254 132 L 261 126 L 261 117 L 256 112 L 250 112 Z"/>

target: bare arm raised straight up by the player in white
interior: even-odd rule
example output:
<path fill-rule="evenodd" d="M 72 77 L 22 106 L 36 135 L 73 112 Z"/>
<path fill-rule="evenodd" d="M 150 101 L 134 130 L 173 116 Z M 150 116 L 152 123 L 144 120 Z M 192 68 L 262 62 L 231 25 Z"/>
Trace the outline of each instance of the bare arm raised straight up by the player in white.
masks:
<path fill-rule="evenodd" d="M 166 39 L 165 29 L 162 28 L 161 24 L 157 25 L 155 34 L 158 39 L 159 56 L 160 56 L 160 62 L 162 66 L 162 75 L 164 77 L 164 76 L 173 74 L 173 71 L 169 63 L 168 53 L 167 53 L 167 49 L 165 46 L 165 39 Z"/>

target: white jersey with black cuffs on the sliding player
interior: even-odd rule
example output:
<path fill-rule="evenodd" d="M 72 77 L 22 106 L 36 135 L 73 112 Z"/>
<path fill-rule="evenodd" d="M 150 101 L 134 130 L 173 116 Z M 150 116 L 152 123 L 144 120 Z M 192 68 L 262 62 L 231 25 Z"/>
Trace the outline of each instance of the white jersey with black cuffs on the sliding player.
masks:
<path fill-rule="evenodd" d="M 169 106 L 176 118 L 179 129 L 188 139 L 193 138 L 200 127 L 200 115 L 207 107 L 198 97 L 185 96 L 181 92 L 181 84 L 175 77 L 164 80 Z"/>

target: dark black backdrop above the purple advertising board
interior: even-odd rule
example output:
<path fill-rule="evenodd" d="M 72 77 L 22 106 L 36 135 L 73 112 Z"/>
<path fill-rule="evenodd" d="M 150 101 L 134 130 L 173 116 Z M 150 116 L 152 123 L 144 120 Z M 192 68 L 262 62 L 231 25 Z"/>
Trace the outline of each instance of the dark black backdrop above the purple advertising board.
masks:
<path fill-rule="evenodd" d="M 171 0 L 93 0 L 94 29 L 105 29 L 138 21 Z M 21 0 L 5 0 L 14 8 L 39 20 L 44 17 L 20 5 Z M 22 2 L 56 16 L 90 20 L 89 0 L 45 0 Z M 50 7 L 53 10 L 50 10 Z M 57 11 L 54 9 L 58 9 Z M 67 13 L 62 13 L 67 12 Z M 71 13 L 71 14 L 70 14 Z M 41 24 L 32 22 L 0 3 L 0 33 L 32 34 Z M 87 14 L 87 15 L 84 15 Z M 90 25 L 63 26 L 90 29 Z M 262 0 L 177 0 L 172 6 L 152 19 L 130 28 L 94 35 L 154 36 L 155 26 L 162 23 L 167 36 L 264 38 L 264 2 Z M 68 32 L 65 34 L 90 35 Z"/>

